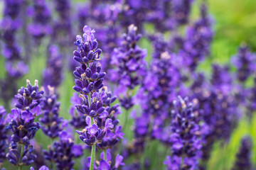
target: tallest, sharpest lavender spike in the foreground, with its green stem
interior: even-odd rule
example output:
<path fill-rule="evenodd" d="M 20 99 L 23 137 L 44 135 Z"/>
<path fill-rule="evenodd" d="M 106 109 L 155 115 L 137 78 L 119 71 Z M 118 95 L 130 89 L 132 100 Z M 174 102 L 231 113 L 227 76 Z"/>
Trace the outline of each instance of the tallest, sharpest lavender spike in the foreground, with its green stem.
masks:
<path fill-rule="evenodd" d="M 82 131 L 78 132 L 80 140 L 85 144 L 92 146 L 92 154 L 90 159 L 90 170 L 95 166 L 95 152 L 96 145 L 104 141 L 104 145 L 100 145 L 102 149 L 116 144 L 118 137 L 122 137 L 121 128 L 111 132 L 113 128 L 119 123 L 116 120 L 119 114 L 118 106 L 110 107 L 114 102 L 115 97 L 107 94 L 103 87 L 103 78 L 105 72 L 101 71 L 101 66 L 98 64 L 100 60 L 100 49 L 97 49 L 97 40 L 95 39 L 95 30 L 85 26 L 83 28 L 84 34 L 82 37 L 77 35 L 75 45 L 78 50 L 73 52 L 74 60 L 80 63 L 80 67 L 75 69 L 74 75 L 75 86 L 73 89 L 80 93 L 82 103 L 75 105 L 75 108 L 81 115 L 86 115 L 85 118 L 87 126 Z M 114 142 L 112 142 L 114 140 Z"/>

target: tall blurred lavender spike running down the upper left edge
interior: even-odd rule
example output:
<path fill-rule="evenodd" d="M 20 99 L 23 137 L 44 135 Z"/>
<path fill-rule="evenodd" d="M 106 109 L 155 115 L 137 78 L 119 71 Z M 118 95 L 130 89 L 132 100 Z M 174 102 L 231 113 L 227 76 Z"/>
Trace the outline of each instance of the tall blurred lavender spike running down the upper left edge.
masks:
<path fill-rule="evenodd" d="M 18 14 L 22 1 L 4 1 L 4 18 L 1 20 L 1 39 L 3 40 L 2 54 L 5 57 L 6 79 L 1 80 L 1 97 L 6 108 L 17 90 L 16 80 L 28 72 L 28 67 L 21 57 L 21 47 L 18 45 L 16 32 L 21 26 Z"/>

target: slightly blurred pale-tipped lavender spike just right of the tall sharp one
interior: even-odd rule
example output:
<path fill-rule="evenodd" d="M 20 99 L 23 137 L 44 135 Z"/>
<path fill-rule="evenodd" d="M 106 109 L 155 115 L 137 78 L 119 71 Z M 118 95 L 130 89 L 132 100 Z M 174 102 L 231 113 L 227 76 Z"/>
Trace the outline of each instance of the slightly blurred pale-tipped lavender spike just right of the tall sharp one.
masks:
<path fill-rule="evenodd" d="M 114 49 L 112 64 L 117 69 L 111 72 L 112 80 L 119 85 L 118 91 L 122 91 L 119 92 L 122 94 L 119 101 L 126 110 L 134 105 L 129 91 L 142 84 L 146 66 L 144 61 L 146 50 L 142 50 L 137 45 L 140 38 L 140 35 L 136 34 L 137 27 L 131 25 L 128 29 L 128 34 L 123 35 L 121 47 Z"/>

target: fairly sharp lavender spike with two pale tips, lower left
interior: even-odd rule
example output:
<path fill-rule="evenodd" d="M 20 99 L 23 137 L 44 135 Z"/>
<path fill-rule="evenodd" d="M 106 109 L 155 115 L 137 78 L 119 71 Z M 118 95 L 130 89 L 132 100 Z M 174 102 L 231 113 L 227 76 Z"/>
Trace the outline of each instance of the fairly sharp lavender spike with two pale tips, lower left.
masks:
<path fill-rule="evenodd" d="M 32 86 L 27 80 L 27 86 L 21 87 L 15 96 L 18 103 L 16 108 L 11 110 L 7 115 L 7 121 L 10 121 L 7 129 L 11 130 L 11 144 L 6 158 L 16 166 L 29 165 L 34 162 L 36 155 L 33 154 L 33 145 L 30 140 L 39 130 L 39 123 L 35 123 L 34 119 L 41 113 L 38 106 L 41 103 L 43 91 L 38 91 L 38 81 Z M 19 152 L 21 150 L 21 152 Z M 20 162 L 21 158 L 21 162 Z"/>

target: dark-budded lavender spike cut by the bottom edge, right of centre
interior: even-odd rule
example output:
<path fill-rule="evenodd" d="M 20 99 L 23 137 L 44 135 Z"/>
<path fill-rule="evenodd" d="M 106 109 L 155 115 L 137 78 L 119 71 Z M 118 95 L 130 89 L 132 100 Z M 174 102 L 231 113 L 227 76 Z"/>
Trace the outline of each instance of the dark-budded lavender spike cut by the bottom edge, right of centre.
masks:
<path fill-rule="evenodd" d="M 164 164 L 167 169 L 197 169 L 201 158 L 201 127 L 197 111 L 193 110 L 193 103 L 181 97 L 174 101 L 174 111 L 171 119 L 172 156 L 167 157 Z M 186 148 L 186 149 L 184 149 Z"/>

